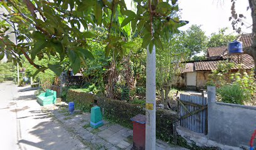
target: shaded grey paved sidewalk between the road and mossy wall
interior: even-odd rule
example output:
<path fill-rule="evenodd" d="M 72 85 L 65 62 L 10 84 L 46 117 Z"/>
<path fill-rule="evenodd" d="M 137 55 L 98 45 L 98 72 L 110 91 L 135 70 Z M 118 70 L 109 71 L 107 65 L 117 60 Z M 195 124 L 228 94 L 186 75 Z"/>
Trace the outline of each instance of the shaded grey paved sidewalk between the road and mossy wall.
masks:
<path fill-rule="evenodd" d="M 87 146 L 91 149 L 131 149 L 132 148 L 132 130 L 124 128 L 119 124 L 104 121 L 104 126 L 98 129 L 90 127 L 90 113 L 75 111 L 70 114 L 67 104 L 59 106 L 46 106 L 44 109 L 50 110 L 56 119 L 58 119 L 68 131 L 77 134 Z M 156 141 L 156 149 L 186 150 L 179 148 L 161 140 Z"/>

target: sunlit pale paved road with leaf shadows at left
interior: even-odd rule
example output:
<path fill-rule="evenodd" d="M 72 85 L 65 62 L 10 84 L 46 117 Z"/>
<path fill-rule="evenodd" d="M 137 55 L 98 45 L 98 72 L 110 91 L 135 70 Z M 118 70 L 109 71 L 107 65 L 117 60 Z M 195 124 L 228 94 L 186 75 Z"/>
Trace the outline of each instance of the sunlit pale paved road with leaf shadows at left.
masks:
<path fill-rule="evenodd" d="M 35 90 L 0 84 L 1 149 L 88 149 L 50 113 L 41 111 Z"/>

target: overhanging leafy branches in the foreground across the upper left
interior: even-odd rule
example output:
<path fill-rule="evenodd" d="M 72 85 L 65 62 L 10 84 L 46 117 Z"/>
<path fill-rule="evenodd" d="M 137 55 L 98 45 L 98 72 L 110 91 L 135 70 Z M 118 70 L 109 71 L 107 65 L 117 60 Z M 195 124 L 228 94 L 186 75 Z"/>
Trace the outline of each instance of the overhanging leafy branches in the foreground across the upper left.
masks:
<path fill-rule="evenodd" d="M 124 0 L 14 0 L 1 1 L 0 6 L 8 13 L 0 14 L 1 50 L 0 58 L 6 54 L 9 61 L 20 62 L 24 55 L 39 71 L 51 69 L 60 75 L 63 60 L 69 60 L 68 68 L 77 73 L 86 59 L 93 59 L 90 42 L 105 46 L 105 55 L 124 56 L 133 43 L 124 38 L 131 32 L 127 24 L 143 38 L 142 47 L 153 44 L 163 48 L 161 36 L 164 32 L 177 31 L 186 24 L 171 14 L 179 11 L 176 0 L 134 0 L 136 11 L 126 8 Z M 8 27 L 14 29 L 18 43 L 9 40 Z M 91 32 L 100 28 L 104 37 Z M 125 32 L 124 32 L 125 31 Z M 154 32 L 152 32 L 154 31 Z M 58 63 L 41 66 L 38 58 L 58 58 Z M 21 63 L 19 63 L 21 65 Z"/>

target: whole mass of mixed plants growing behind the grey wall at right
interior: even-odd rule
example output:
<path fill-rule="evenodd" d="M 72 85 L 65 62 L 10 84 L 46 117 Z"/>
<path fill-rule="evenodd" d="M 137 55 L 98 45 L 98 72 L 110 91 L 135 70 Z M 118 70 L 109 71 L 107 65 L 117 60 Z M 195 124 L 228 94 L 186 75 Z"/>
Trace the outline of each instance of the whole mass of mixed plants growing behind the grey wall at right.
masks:
<path fill-rule="evenodd" d="M 219 100 L 232 104 L 255 105 L 256 83 L 253 71 L 247 73 L 242 66 L 223 61 L 218 64 L 218 69 L 209 75 L 208 85 L 216 86 Z M 231 69 L 237 67 L 237 73 Z"/>

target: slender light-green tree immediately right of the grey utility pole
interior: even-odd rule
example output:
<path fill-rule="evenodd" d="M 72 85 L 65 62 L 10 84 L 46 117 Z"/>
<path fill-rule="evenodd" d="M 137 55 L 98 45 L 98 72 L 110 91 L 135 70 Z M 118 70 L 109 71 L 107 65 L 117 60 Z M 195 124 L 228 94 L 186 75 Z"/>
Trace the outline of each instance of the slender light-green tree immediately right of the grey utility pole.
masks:
<path fill-rule="evenodd" d="M 168 108 L 168 94 L 175 77 L 184 68 L 181 62 L 189 56 L 189 49 L 183 47 L 183 37 L 183 33 L 166 35 L 163 39 L 164 49 L 156 51 L 156 83 L 164 108 Z"/>

